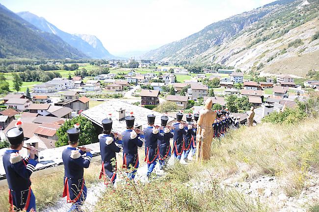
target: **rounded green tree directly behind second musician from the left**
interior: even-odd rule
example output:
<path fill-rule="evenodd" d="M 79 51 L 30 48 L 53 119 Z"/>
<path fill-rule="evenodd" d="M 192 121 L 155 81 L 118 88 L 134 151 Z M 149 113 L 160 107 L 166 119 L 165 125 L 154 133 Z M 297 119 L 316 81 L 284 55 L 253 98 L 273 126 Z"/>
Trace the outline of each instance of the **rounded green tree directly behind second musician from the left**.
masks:
<path fill-rule="evenodd" d="M 95 131 L 92 122 L 84 116 L 78 116 L 65 121 L 63 126 L 56 131 L 56 135 L 59 138 L 58 141 L 55 142 L 56 147 L 68 145 L 69 139 L 66 131 L 73 128 L 76 123 L 80 124 L 79 146 L 97 141 L 98 133 Z"/>

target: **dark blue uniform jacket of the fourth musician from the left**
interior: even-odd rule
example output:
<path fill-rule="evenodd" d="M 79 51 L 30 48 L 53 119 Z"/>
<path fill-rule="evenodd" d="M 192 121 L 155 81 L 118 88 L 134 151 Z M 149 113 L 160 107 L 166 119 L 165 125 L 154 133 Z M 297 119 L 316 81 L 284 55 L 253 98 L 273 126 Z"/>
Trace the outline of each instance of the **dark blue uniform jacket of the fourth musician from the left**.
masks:
<path fill-rule="evenodd" d="M 126 130 L 122 132 L 123 138 L 123 167 L 136 168 L 138 162 L 137 147 L 142 147 L 144 142 L 144 135 L 137 134 L 137 136 L 131 139 L 132 130 Z"/>

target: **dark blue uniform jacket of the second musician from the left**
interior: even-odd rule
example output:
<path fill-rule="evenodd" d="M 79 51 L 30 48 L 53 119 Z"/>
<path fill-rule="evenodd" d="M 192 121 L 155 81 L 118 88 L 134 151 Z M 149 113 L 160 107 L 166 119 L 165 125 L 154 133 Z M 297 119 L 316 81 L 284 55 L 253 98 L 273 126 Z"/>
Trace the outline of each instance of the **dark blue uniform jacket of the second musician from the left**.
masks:
<path fill-rule="evenodd" d="M 84 157 L 83 155 L 86 154 Z M 83 156 L 83 157 L 82 157 Z M 62 152 L 64 164 L 64 192 L 68 202 L 77 202 L 82 196 L 85 185 L 84 168 L 88 168 L 92 159 L 91 153 L 85 153 L 73 147 L 67 147 Z"/>

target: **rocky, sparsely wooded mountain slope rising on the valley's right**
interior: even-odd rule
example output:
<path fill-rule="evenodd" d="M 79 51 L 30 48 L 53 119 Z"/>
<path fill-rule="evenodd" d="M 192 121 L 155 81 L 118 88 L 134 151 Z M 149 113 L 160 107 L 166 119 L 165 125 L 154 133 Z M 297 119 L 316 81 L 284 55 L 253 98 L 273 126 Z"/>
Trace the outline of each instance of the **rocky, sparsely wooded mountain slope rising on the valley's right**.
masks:
<path fill-rule="evenodd" d="M 304 76 L 318 69 L 314 62 L 319 58 L 318 14 L 317 0 L 279 0 L 213 23 L 144 56 Z"/>

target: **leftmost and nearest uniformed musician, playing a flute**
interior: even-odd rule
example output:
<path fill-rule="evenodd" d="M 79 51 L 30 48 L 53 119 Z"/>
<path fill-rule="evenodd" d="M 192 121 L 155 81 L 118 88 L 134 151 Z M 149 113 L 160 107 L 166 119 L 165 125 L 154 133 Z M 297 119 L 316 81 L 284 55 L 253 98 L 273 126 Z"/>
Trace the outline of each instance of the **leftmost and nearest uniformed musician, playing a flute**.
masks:
<path fill-rule="evenodd" d="M 10 212 L 14 212 L 15 209 L 35 212 L 35 196 L 30 187 L 30 176 L 37 164 L 35 160 L 37 150 L 31 146 L 26 159 L 19 154 L 24 143 L 21 121 L 16 123 L 16 127 L 8 130 L 5 136 L 9 140 L 10 149 L 5 151 L 2 160 L 9 186 Z"/>

